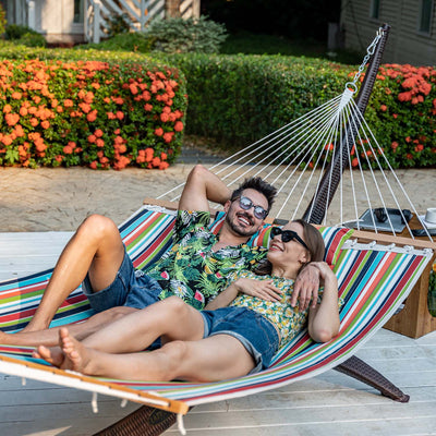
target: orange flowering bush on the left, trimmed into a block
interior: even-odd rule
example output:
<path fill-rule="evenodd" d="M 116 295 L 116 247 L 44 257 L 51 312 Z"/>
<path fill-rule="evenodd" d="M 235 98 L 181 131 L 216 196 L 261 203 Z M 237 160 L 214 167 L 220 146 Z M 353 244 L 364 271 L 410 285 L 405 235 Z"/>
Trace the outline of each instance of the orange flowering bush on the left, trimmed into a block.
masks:
<path fill-rule="evenodd" d="M 0 165 L 166 169 L 186 95 L 174 69 L 102 61 L 0 62 Z"/>

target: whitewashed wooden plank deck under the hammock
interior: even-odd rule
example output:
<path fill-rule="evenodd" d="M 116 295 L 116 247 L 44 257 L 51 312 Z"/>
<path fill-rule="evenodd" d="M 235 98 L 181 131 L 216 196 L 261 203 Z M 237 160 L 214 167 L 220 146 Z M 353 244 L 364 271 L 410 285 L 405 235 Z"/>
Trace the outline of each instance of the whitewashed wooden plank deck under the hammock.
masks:
<path fill-rule="evenodd" d="M 68 232 L 0 233 L 0 280 L 49 268 Z M 436 435 L 436 331 L 420 339 L 382 329 L 358 352 L 404 392 L 409 403 L 329 371 L 256 396 L 204 404 L 184 419 L 187 435 Z M 0 374 L 0 435 L 90 435 L 138 405 Z M 166 432 L 178 434 L 177 427 Z"/>

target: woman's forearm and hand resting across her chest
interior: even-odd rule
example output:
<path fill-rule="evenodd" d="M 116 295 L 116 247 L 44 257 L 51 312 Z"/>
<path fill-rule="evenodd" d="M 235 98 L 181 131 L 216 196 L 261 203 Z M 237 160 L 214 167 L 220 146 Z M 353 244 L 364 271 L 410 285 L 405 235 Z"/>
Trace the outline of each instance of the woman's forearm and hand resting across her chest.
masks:
<path fill-rule="evenodd" d="M 207 311 L 228 306 L 239 293 L 257 296 L 266 301 L 280 301 L 281 291 L 272 284 L 272 280 L 256 280 L 241 277 L 206 305 Z"/>

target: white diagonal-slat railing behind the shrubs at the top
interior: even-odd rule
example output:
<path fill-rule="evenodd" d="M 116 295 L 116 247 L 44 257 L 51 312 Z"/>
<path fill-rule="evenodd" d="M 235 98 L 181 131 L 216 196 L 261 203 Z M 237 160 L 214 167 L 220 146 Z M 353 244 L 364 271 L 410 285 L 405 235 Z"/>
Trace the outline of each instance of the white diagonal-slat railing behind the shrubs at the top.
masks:
<path fill-rule="evenodd" d="M 199 16 L 199 1 L 181 0 L 181 16 Z M 132 32 L 144 31 L 152 19 L 165 17 L 165 0 L 85 0 L 85 38 L 98 44 L 117 15 L 123 16 Z"/>

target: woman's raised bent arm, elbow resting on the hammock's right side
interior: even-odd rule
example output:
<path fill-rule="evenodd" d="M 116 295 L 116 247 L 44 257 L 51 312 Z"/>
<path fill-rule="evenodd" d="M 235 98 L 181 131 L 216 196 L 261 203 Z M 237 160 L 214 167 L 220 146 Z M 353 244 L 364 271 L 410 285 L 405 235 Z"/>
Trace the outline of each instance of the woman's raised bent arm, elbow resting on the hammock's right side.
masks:
<path fill-rule="evenodd" d="M 308 334 L 316 342 L 327 342 L 339 331 L 338 279 L 325 262 L 312 265 L 319 270 L 324 293 L 320 304 L 308 311 Z"/>

